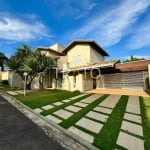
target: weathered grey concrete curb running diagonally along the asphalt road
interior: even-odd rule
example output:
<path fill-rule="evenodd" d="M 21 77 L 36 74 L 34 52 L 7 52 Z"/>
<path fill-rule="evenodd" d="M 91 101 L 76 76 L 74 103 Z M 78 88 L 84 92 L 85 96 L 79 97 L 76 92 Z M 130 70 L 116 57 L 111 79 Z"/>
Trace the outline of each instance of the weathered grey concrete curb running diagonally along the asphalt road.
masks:
<path fill-rule="evenodd" d="M 57 125 L 56 123 L 48 120 L 47 118 L 43 117 L 42 115 L 34 112 L 31 108 L 27 107 L 20 101 L 16 100 L 11 95 L 8 95 L 7 93 L 0 91 L 0 95 L 4 97 L 9 103 L 11 103 L 13 106 L 15 106 L 19 111 L 21 111 L 21 108 L 26 109 L 30 113 L 27 113 L 26 111 L 21 111 L 24 115 L 26 115 L 28 118 L 30 118 L 34 123 L 38 124 L 45 132 L 48 134 L 50 132 L 51 135 L 54 136 L 53 138 L 61 143 L 63 147 L 70 150 L 99 150 L 92 144 L 88 143 L 84 139 L 80 138 L 79 136 L 75 135 L 74 133 L 62 128 L 61 126 Z M 32 116 L 32 117 L 31 117 Z M 41 124 L 41 121 L 37 122 L 35 117 L 40 119 L 43 123 Z M 47 128 L 48 127 L 48 128 Z M 49 130 L 49 131 L 48 131 Z M 51 133 L 53 132 L 53 133 Z M 63 137 L 63 138 L 62 138 Z"/>

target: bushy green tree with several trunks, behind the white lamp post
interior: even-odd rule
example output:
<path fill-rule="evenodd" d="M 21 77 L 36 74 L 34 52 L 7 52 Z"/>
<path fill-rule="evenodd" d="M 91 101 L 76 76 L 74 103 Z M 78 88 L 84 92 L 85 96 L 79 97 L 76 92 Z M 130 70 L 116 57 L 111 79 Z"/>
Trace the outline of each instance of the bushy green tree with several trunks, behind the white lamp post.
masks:
<path fill-rule="evenodd" d="M 43 78 L 48 72 L 49 66 L 54 65 L 54 60 L 39 51 L 32 51 L 23 44 L 17 48 L 15 55 L 8 60 L 10 69 L 18 73 L 24 80 L 24 72 L 27 72 L 27 89 L 31 89 L 31 83 L 35 77 L 39 77 L 40 87 L 43 88 Z"/>

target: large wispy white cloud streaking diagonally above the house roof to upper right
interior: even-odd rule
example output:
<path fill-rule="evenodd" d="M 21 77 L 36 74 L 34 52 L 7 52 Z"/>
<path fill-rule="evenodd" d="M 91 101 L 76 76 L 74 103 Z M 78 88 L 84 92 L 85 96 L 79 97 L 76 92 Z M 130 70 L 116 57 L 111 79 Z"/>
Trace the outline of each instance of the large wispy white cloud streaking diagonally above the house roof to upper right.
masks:
<path fill-rule="evenodd" d="M 150 5 L 150 0 L 125 0 L 118 6 L 97 17 L 89 19 L 81 28 L 70 36 L 74 38 L 90 37 L 104 46 L 118 43 L 130 33 L 130 27 L 135 23 Z"/>

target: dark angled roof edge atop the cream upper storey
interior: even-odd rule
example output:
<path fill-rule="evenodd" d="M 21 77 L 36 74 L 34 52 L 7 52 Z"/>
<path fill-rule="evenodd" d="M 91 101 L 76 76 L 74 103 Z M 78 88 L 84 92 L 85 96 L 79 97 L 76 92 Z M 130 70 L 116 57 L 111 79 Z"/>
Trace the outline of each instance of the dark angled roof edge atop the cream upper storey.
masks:
<path fill-rule="evenodd" d="M 77 44 L 89 44 L 92 47 L 95 47 L 95 49 L 97 49 L 98 52 L 101 53 L 103 56 L 109 56 L 109 54 L 104 49 L 102 49 L 94 40 L 74 40 L 66 46 L 62 53 L 67 53 L 72 47 Z"/>

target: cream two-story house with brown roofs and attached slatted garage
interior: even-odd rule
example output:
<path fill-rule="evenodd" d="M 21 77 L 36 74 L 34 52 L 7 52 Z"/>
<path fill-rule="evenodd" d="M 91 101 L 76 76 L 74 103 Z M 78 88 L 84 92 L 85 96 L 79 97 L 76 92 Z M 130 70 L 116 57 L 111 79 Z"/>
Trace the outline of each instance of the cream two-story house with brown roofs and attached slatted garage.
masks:
<path fill-rule="evenodd" d="M 147 88 L 149 60 L 123 64 L 105 60 L 108 53 L 93 40 L 74 40 L 66 47 L 55 44 L 38 50 L 57 62 L 57 77 L 48 87 L 81 92 L 95 88 Z"/>

